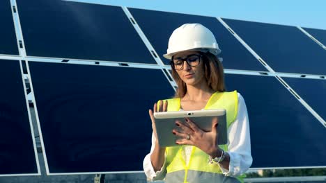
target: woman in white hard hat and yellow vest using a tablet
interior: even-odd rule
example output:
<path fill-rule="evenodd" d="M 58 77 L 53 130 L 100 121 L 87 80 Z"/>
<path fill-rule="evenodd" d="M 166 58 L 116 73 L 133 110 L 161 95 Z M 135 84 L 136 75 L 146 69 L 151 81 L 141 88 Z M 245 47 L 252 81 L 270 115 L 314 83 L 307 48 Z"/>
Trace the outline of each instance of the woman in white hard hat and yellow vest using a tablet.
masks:
<path fill-rule="evenodd" d="M 178 85 L 176 97 L 154 104 L 154 112 L 226 109 L 228 144 L 217 146 L 218 121 L 212 131 L 204 132 L 191 119 L 176 121 L 172 131 L 177 144 L 158 145 L 153 111 L 153 136 L 150 153 L 143 160 L 148 180 L 166 182 L 239 182 L 251 166 L 249 121 L 242 96 L 225 92 L 224 73 L 217 55 L 214 35 L 201 24 L 184 24 L 173 31 L 169 49 L 172 76 Z"/>

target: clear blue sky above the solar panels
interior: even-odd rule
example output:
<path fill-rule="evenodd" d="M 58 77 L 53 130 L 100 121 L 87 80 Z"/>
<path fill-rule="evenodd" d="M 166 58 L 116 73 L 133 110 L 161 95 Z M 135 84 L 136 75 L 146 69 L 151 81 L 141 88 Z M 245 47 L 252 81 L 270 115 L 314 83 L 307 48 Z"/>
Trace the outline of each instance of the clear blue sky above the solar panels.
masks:
<path fill-rule="evenodd" d="M 72 0 L 326 30 L 326 0 Z"/>

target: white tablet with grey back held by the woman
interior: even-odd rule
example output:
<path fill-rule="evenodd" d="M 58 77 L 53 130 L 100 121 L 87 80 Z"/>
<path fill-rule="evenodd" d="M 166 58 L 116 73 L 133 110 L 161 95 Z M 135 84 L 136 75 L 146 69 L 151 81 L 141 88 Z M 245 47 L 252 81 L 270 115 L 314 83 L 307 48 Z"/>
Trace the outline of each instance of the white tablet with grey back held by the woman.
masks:
<path fill-rule="evenodd" d="M 155 112 L 155 126 L 157 139 L 161 147 L 178 146 L 176 140 L 178 137 L 172 134 L 172 130 L 178 130 L 176 120 L 185 122 L 185 117 L 188 117 L 196 125 L 210 132 L 212 130 L 212 119 L 217 117 L 219 132 L 217 142 L 219 145 L 228 142 L 226 131 L 226 110 L 195 110 L 195 111 L 178 111 L 178 112 Z"/>

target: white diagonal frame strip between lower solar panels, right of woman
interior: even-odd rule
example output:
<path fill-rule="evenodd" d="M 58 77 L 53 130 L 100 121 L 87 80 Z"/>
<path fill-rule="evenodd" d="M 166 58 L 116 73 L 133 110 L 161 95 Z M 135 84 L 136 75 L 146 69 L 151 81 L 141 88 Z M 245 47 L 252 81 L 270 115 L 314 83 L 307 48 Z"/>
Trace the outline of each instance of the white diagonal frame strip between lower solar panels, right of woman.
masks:
<path fill-rule="evenodd" d="M 290 87 L 290 85 L 288 85 L 288 83 L 283 80 L 281 77 L 279 76 L 275 76 L 277 78 L 277 80 L 279 80 L 279 82 L 281 82 L 282 85 L 284 85 L 284 87 L 286 87 L 286 89 L 288 89 L 288 92 L 290 92 L 293 96 L 295 96 L 295 98 L 297 98 L 297 100 L 304 106 L 306 107 L 306 110 L 308 110 L 313 116 L 316 117 L 316 119 L 326 128 L 326 121 L 315 111 L 313 110 L 313 108 L 306 103 L 306 101 L 304 101 L 304 99 L 297 94 L 297 92 L 295 92 L 295 89 L 293 89 L 292 87 Z"/>

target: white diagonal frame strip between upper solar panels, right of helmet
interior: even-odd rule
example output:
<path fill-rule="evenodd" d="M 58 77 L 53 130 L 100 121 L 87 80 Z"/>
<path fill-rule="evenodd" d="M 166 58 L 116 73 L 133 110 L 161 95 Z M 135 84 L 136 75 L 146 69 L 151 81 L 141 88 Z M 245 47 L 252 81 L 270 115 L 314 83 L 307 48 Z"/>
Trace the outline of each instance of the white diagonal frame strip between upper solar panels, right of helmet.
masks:
<path fill-rule="evenodd" d="M 260 62 L 263 67 L 265 67 L 268 71 L 270 71 L 271 73 L 275 73 L 275 71 L 272 69 L 272 67 L 270 67 L 266 62 L 265 60 L 263 60 L 263 58 L 261 58 L 257 53 L 256 51 L 254 51 L 253 49 L 251 49 L 251 47 L 246 43 L 244 42 L 244 40 L 242 40 L 242 38 L 237 34 L 235 33 L 235 31 L 230 27 L 228 26 L 228 24 L 226 24 L 226 22 L 221 18 L 221 17 L 217 17 L 217 20 L 230 32 L 232 33 L 232 35 L 252 54 L 254 55 L 254 57 L 258 60 L 258 62 Z"/>

